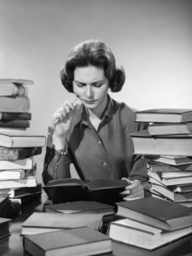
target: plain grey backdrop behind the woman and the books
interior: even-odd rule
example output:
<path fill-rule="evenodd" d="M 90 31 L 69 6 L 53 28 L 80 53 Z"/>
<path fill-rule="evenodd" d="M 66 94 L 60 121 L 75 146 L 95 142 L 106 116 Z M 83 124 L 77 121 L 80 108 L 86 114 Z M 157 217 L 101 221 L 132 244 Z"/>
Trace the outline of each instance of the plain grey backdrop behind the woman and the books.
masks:
<path fill-rule="evenodd" d="M 114 99 L 139 110 L 192 108 L 191 0 L 0 0 L 0 79 L 32 79 L 28 131 L 47 134 L 65 100 L 60 69 L 79 42 L 105 41 L 125 67 Z M 41 181 L 44 152 L 35 157 Z"/>

